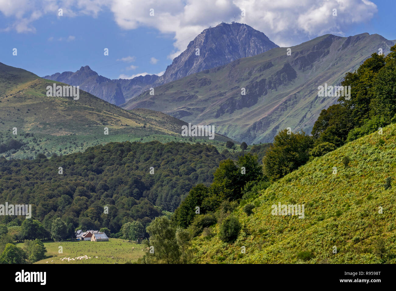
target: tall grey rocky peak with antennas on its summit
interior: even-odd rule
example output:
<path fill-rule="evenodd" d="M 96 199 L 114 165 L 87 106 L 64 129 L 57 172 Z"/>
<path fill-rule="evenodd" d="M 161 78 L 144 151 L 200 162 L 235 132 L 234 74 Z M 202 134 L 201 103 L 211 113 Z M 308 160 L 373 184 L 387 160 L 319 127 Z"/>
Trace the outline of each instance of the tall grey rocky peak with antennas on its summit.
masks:
<path fill-rule="evenodd" d="M 205 29 L 192 40 L 187 49 L 173 59 L 154 86 L 278 47 L 263 32 L 249 25 L 220 23 L 216 27 Z"/>

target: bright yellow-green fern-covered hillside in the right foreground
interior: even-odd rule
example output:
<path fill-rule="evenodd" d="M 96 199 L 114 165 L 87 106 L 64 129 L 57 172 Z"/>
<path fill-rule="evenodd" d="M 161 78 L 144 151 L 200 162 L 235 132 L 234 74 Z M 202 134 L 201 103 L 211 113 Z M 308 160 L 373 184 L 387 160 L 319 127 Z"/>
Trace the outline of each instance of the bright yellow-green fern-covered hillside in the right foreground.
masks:
<path fill-rule="evenodd" d="M 392 124 L 383 135 L 364 136 L 289 173 L 234 211 L 242 224 L 235 243 L 219 240 L 219 224 L 211 227 L 213 237 L 195 238 L 193 261 L 396 263 L 396 186 L 384 186 L 394 177 L 395 142 Z M 247 202 L 255 204 L 250 216 L 242 211 Z M 304 204 L 305 218 L 272 215 L 279 202 Z"/>

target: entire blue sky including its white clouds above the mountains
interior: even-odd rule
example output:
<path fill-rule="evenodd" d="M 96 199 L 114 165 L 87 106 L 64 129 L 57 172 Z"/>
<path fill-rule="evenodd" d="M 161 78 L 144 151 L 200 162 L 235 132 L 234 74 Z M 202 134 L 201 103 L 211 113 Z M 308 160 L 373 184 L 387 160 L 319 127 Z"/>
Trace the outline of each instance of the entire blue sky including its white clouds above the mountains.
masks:
<path fill-rule="evenodd" d="M 160 74 L 203 29 L 230 22 L 234 14 L 237 22 L 264 32 L 280 46 L 326 33 L 369 32 L 396 39 L 393 0 L 371 1 L 375 5 L 345 0 L 343 7 L 333 0 L 307 0 L 300 6 L 286 5 L 293 3 L 286 0 L 276 4 L 262 0 L 262 7 L 253 0 L 251 5 L 236 0 L 216 4 L 212 0 L 208 4 L 204 3 L 207 0 L 169 0 L 168 5 L 153 0 L 50 0 L 32 5 L 24 1 L 10 2 L 19 9 L 0 1 L 0 62 L 38 76 L 74 72 L 85 65 L 111 79 Z M 246 10 L 244 17 L 240 3 Z M 63 7 L 63 16 L 58 16 L 59 7 Z M 150 7 L 154 7 L 152 17 Z M 337 8 L 337 17 L 327 15 L 332 7 Z M 12 55 L 13 48 L 17 48 L 17 56 Z M 104 48 L 109 49 L 108 56 L 103 54 Z"/>

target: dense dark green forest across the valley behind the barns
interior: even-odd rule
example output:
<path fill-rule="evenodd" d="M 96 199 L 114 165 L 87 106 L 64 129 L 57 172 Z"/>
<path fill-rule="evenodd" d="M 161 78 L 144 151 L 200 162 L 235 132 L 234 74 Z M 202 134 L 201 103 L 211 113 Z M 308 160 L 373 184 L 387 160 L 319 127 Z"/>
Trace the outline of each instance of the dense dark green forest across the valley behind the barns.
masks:
<path fill-rule="evenodd" d="M 210 145 L 155 141 L 109 143 L 51 158 L 38 154 L 34 160 L 2 157 L 1 200 L 31 204 L 32 218 L 47 230 L 60 217 L 69 234 L 75 228 L 101 227 L 117 234 L 129 221 L 146 226 L 154 217 L 173 212 L 196 184 L 208 186 L 217 165 L 229 157 L 233 154 L 228 150 L 220 154 Z M 14 216 L 0 219 L 8 226 L 24 221 Z"/>

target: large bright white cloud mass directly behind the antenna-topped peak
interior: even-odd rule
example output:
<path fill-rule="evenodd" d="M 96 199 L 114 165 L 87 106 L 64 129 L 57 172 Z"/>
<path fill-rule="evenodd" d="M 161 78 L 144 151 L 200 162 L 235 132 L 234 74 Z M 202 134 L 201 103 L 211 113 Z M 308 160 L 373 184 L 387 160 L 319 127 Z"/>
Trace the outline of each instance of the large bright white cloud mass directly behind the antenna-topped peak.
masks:
<path fill-rule="evenodd" d="M 149 16 L 149 9 L 154 16 Z M 241 10 L 246 15 L 241 15 Z M 332 15 L 333 8 L 337 16 Z M 221 21 L 246 23 L 264 32 L 280 46 L 296 45 L 326 33 L 341 34 L 348 25 L 362 23 L 377 13 L 368 0 L 114 0 L 111 4 L 116 23 L 123 29 L 148 26 L 162 33 L 174 34 L 176 57 L 202 30 Z"/>

